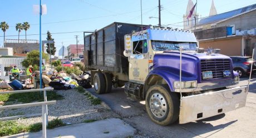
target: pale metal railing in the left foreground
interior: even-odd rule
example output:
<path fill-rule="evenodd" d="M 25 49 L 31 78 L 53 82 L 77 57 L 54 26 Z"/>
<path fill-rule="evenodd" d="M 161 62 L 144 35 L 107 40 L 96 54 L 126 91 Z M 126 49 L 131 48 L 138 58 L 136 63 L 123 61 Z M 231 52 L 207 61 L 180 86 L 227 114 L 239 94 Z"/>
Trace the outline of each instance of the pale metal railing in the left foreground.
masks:
<path fill-rule="evenodd" d="M 43 131 L 42 137 L 46 138 L 46 126 L 48 124 L 48 109 L 47 109 L 47 105 L 56 104 L 56 100 L 47 101 L 47 95 L 46 95 L 46 91 L 47 90 L 53 90 L 53 88 L 30 89 L 30 90 L 16 90 L 16 91 L 3 91 L 0 94 L 17 94 L 17 93 L 31 93 L 31 92 L 43 91 L 43 99 L 44 99 L 44 101 L 36 102 L 36 103 L 0 106 L 0 110 L 26 108 L 26 107 L 31 107 L 31 106 L 42 106 L 42 131 Z M 17 116 L 17 117 L 19 117 L 19 116 Z M 7 119 L 10 119 L 10 118 L 7 118 Z M 14 119 L 14 118 L 12 117 L 11 119 Z"/>

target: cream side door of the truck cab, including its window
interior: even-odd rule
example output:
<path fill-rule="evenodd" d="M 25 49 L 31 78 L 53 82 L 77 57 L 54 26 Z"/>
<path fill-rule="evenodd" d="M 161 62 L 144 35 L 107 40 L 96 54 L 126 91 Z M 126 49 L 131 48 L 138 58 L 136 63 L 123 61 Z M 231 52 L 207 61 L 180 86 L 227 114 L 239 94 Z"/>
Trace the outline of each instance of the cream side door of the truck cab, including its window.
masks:
<path fill-rule="evenodd" d="M 131 44 L 129 80 L 133 83 L 144 84 L 146 76 L 149 74 L 149 46 L 146 34 L 132 36 Z"/>

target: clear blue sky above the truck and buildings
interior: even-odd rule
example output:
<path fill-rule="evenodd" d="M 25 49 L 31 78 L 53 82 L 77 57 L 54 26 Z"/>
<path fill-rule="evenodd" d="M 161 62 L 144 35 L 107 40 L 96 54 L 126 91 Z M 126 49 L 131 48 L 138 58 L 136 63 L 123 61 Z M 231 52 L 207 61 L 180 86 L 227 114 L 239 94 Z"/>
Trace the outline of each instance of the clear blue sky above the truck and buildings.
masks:
<path fill-rule="evenodd" d="M 189 0 L 161 0 L 161 24 L 171 24 L 168 27 L 183 28 L 183 15 Z M 212 0 L 198 0 L 197 13 L 199 17 L 209 16 Z M 18 39 L 16 23 L 28 22 L 31 28 L 27 30 L 27 39 L 39 40 L 39 15 L 33 13 L 33 5 L 39 0 L 0 0 L 0 22 L 7 22 L 9 29 L 6 39 Z M 47 14 L 42 16 L 42 40 L 46 40 L 49 30 L 55 39 L 58 49 L 65 45 L 83 44 L 83 31 L 101 29 L 113 22 L 157 25 L 158 0 L 42 0 L 47 6 Z M 195 4 L 195 0 L 193 0 Z M 255 0 L 214 0 L 219 13 L 232 11 L 255 4 Z M 69 33 L 67 33 L 69 32 Z M 72 32 L 72 33 L 70 33 Z M 20 39 L 25 39 L 22 30 Z M 31 35 L 32 34 L 32 35 Z M 9 36 L 12 35 L 12 36 Z M 14 35 L 14 36 L 13 36 Z M 3 32 L 0 30 L 0 47 L 3 46 Z"/>

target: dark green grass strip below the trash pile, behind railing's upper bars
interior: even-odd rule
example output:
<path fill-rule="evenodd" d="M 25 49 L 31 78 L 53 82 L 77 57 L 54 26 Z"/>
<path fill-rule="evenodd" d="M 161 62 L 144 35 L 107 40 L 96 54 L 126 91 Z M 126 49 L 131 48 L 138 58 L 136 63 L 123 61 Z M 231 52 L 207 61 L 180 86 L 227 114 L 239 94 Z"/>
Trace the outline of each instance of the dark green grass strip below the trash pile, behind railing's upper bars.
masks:
<path fill-rule="evenodd" d="M 56 91 L 47 91 L 47 100 L 61 100 L 62 95 L 56 93 Z M 0 101 L 4 101 L 4 105 L 18 103 L 31 103 L 34 101 L 43 101 L 43 93 L 31 92 L 31 93 L 18 93 L 18 94 L 1 94 Z"/>

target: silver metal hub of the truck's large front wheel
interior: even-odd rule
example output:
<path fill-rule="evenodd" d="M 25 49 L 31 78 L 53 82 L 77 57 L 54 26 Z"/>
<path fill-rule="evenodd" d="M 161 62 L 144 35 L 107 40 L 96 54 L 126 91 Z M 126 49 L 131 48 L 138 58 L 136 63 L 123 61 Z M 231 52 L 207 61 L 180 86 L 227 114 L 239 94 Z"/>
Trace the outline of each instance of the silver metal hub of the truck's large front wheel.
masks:
<path fill-rule="evenodd" d="M 166 100 L 163 95 L 154 93 L 150 97 L 150 109 L 153 115 L 156 117 L 163 117 L 166 114 Z"/>

